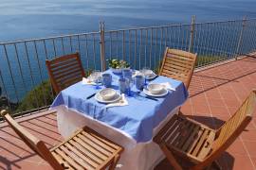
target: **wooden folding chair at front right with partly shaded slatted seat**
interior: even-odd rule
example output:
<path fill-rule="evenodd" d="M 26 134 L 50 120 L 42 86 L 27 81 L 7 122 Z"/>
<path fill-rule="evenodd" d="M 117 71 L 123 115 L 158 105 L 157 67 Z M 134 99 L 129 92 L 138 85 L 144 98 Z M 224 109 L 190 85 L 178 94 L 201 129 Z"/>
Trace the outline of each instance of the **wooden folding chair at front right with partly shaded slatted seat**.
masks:
<path fill-rule="evenodd" d="M 155 135 L 154 141 L 175 169 L 182 169 L 178 162 L 180 159 L 177 158 L 192 163 L 186 169 L 203 169 L 212 162 L 218 165 L 218 157 L 247 127 L 255 111 L 255 104 L 256 90 L 253 90 L 243 105 L 219 129 L 211 129 L 184 114 L 174 114 Z"/>

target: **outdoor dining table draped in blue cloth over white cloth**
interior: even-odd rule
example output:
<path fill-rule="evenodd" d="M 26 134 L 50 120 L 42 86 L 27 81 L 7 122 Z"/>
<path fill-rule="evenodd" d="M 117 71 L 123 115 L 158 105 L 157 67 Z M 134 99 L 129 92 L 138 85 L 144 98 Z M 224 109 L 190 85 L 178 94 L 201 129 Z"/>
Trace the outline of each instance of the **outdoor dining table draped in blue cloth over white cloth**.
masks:
<path fill-rule="evenodd" d="M 118 90 L 119 75 L 110 70 L 106 73 L 112 74 L 112 88 Z M 164 156 L 152 139 L 186 101 L 188 91 L 181 81 L 166 76 L 157 76 L 151 82 L 169 82 L 174 91 L 157 100 L 143 97 L 144 93 L 140 97 L 133 94 L 126 96 L 127 106 L 106 108 L 94 97 L 86 99 L 99 91 L 93 85 L 81 81 L 64 89 L 51 105 L 51 109 L 57 110 L 60 133 L 68 137 L 80 127 L 91 127 L 124 147 L 117 168 L 153 169 Z M 132 92 L 137 92 L 136 87 L 132 87 Z"/>

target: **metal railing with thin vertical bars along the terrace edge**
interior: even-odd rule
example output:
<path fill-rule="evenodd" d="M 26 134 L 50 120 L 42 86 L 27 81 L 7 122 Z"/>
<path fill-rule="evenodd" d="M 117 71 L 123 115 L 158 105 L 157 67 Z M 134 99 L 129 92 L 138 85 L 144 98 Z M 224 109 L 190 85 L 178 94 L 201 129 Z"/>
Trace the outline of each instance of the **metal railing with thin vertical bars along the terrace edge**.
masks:
<path fill-rule="evenodd" d="M 54 98 L 52 91 L 38 87 L 48 79 L 46 59 L 79 52 L 85 70 L 105 70 L 106 59 L 113 58 L 125 59 L 135 69 L 155 69 L 169 46 L 197 53 L 196 67 L 202 67 L 254 52 L 255 41 L 256 19 L 196 23 L 192 17 L 191 24 L 119 30 L 105 30 L 100 23 L 99 32 L 0 42 L 0 86 L 8 105 L 16 104 L 14 112 L 40 110 Z M 38 91 L 31 91 L 35 87 Z M 16 110 L 29 97 L 33 106 Z"/>

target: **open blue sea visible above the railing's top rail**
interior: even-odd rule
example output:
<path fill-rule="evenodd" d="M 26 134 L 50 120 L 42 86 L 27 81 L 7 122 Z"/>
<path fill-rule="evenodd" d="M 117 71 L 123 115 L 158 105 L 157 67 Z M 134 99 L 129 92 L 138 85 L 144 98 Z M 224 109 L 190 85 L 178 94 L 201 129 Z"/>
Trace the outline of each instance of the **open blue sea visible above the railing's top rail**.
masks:
<path fill-rule="evenodd" d="M 1 0 L 0 42 L 106 29 L 256 17 L 255 0 Z"/>

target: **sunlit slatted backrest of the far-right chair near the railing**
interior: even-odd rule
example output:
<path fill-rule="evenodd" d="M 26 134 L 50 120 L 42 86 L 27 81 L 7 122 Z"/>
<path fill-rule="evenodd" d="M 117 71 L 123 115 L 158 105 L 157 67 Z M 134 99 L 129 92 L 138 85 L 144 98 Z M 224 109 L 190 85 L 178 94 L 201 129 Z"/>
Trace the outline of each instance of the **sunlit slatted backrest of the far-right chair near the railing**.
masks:
<path fill-rule="evenodd" d="M 167 47 L 159 75 L 180 80 L 189 88 L 196 56 L 196 54 Z"/>

